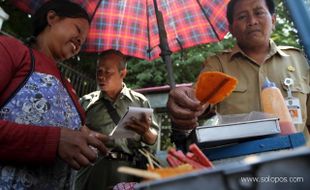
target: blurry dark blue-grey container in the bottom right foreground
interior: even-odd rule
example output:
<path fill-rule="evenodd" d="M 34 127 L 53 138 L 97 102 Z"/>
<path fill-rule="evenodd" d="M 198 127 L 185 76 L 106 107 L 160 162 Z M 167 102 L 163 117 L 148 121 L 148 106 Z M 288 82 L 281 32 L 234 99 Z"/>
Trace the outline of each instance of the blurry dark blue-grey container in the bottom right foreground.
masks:
<path fill-rule="evenodd" d="M 144 181 L 137 184 L 135 189 L 309 189 L 309 159 L 310 149 L 307 147 L 264 152 L 256 156 L 238 159 L 228 158 L 219 161 L 213 169 L 197 170 L 171 178 Z M 261 181 L 254 182 L 257 179 Z"/>

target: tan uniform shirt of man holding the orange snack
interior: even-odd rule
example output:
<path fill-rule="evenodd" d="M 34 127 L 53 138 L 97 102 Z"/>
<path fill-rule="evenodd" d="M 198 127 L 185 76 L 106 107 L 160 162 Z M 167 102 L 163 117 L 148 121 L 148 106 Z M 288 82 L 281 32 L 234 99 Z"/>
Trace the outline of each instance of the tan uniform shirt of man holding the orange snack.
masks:
<path fill-rule="evenodd" d="M 266 61 L 257 64 L 236 45 L 233 49 L 222 52 L 207 59 L 203 71 L 220 71 L 238 79 L 238 85 L 232 94 L 216 105 L 220 114 L 239 114 L 251 111 L 262 111 L 260 99 L 261 87 L 265 78 L 275 82 L 284 97 L 287 87 L 284 79 L 294 80 L 291 87 L 293 96 L 301 103 L 303 125 L 297 126 L 298 131 L 307 129 L 305 123 L 309 116 L 309 65 L 303 53 L 297 48 L 281 47 L 270 41 L 270 52 Z M 308 117 L 308 126 L 310 119 Z M 305 135 L 309 133 L 305 130 Z"/>

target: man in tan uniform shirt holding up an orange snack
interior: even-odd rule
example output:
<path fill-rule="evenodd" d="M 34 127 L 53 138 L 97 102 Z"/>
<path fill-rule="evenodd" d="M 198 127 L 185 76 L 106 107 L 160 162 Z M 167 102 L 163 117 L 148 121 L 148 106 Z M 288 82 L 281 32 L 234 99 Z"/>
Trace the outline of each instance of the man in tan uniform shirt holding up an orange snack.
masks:
<path fill-rule="evenodd" d="M 287 87 L 284 79 L 293 79 L 294 97 L 300 100 L 302 124 L 297 130 L 308 136 L 309 65 L 303 53 L 293 47 L 277 46 L 270 36 L 276 16 L 272 0 L 232 0 L 228 4 L 227 19 L 237 44 L 231 50 L 210 57 L 203 71 L 221 71 L 238 79 L 232 94 L 215 106 L 219 114 L 239 114 L 262 111 L 261 86 L 266 77 L 276 83 L 284 97 Z M 197 116 L 209 109 L 200 106 L 192 88 L 176 88 L 170 92 L 167 103 L 173 129 L 186 134 L 195 128 Z M 309 115 L 309 114 L 308 114 Z M 182 136 L 182 135 L 181 135 Z"/>

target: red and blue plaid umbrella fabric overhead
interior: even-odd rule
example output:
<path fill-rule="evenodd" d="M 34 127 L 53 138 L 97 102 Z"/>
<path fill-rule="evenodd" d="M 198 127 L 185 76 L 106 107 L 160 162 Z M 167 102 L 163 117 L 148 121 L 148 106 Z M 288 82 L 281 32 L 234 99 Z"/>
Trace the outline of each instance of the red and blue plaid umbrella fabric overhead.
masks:
<path fill-rule="evenodd" d="M 31 13 L 44 0 L 12 0 Z M 82 51 L 116 49 L 126 55 L 153 60 L 160 56 L 159 30 L 153 0 L 72 0 L 93 15 Z M 157 0 L 172 52 L 217 42 L 228 32 L 229 0 Z M 98 4 L 100 3 L 100 4 Z M 98 4 L 98 7 L 97 7 Z"/>

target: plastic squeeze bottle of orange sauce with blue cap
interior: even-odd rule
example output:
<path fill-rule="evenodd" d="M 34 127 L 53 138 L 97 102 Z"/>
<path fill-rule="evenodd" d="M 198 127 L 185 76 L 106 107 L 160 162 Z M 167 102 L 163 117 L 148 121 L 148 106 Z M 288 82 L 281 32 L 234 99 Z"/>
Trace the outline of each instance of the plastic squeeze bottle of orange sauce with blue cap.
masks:
<path fill-rule="evenodd" d="M 279 118 L 282 135 L 296 133 L 293 120 L 279 88 L 266 78 L 261 92 L 263 111 Z"/>

